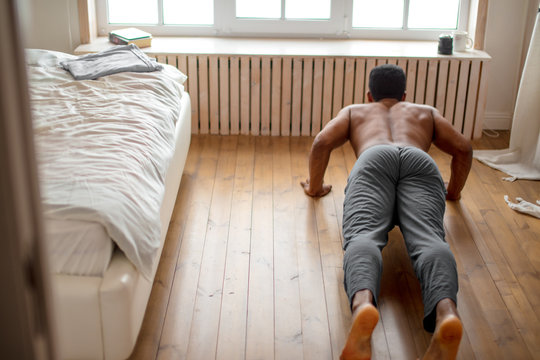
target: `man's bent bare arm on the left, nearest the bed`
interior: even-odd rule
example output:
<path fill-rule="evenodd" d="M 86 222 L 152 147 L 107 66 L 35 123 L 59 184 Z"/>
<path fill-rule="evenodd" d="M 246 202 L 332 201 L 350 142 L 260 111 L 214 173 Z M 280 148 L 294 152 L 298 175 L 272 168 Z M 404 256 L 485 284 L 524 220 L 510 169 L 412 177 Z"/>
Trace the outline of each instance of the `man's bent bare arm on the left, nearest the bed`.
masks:
<path fill-rule="evenodd" d="M 349 122 L 349 108 L 345 108 L 315 137 L 309 154 L 309 178 L 300 183 L 307 195 L 320 197 L 332 189 L 324 184 L 324 173 L 332 150 L 349 139 Z"/>

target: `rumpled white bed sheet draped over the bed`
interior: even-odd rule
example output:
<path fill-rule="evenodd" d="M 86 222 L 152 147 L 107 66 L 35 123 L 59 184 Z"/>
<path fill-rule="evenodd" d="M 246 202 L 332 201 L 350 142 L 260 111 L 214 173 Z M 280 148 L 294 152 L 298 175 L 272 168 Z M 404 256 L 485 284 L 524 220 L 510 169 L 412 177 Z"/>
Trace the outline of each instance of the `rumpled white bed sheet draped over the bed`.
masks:
<path fill-rule="evenodd" d="M 58 65 L 70 57 L 27 52 L 46 229 L 60 235 L 58 246 L 53 241 L 50 247 L 50 262 L 58 273 L 102 273 L 113 251 L 103 241 L 107 237 L 150 278 L 186 77 L 166 66 L 76 81 Z M 83 230 L 85 241 L 96 243 L 75 246 L 82 239 L 75 236 L 66 246 L 66 230 L 80 233 L 82 225 L 90 226 Z M 61 248 L 67 253 L 60 255 Z M 72 261 L 58 261 L 73 254 Z M 77 257 L 88 262 L 77 264 Z"/>

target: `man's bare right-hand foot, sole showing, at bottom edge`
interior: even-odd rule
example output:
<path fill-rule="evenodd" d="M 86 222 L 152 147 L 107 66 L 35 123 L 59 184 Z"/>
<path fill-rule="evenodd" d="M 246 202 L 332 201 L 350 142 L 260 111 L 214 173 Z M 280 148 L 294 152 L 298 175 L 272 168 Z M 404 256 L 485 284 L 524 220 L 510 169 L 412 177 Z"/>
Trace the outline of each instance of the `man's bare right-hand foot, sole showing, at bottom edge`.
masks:
<path fill-rule="evenodd" d="M 437 325 L 423 360 L 453 360 L 457 356 L 463 333 L 461 320 L 456 315 L 447 315 Z"/>

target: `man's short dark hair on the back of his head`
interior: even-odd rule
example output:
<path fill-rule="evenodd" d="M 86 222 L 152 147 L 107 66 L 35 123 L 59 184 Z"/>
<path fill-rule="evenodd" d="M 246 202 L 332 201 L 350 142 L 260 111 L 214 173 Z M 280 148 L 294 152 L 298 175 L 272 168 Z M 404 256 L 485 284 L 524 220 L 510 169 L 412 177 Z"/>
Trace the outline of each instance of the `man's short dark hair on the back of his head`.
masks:
<path fill-rule="evenodd" d="M 375 101 L 387 98 L 401 101 L 405 85 L 405 72 L 397 65 L 379 65 L 369 74 L 369 91 Z"/>

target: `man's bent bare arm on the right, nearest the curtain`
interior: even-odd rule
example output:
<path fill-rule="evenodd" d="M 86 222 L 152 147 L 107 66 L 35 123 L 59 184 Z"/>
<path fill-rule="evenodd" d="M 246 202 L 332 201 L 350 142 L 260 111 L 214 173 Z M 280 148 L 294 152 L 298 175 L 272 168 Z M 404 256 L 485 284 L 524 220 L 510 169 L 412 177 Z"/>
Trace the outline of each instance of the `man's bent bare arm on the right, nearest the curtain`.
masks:
<path fill-rule="evenodd" d="M 433 143 L 439 149 L 452 156 L 450 181 L 446 198 L 459 200 L 472 164 L 472 146 L 470 141 L 458 132 L 448 120 L 433 110 Z"/>

